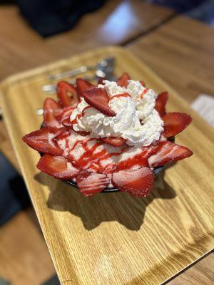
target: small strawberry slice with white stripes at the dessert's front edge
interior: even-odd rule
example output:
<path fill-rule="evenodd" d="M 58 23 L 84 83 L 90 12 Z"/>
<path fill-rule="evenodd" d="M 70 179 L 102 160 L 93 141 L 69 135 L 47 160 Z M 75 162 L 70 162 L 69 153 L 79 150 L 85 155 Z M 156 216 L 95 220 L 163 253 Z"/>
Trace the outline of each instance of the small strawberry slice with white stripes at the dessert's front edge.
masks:
<path fill-rule="evenodd" d="M 76 183 L 83 195 L 89 196 L 103 191 L 109 183 L 105 174 L 81 171 L 76 176 Z"/>

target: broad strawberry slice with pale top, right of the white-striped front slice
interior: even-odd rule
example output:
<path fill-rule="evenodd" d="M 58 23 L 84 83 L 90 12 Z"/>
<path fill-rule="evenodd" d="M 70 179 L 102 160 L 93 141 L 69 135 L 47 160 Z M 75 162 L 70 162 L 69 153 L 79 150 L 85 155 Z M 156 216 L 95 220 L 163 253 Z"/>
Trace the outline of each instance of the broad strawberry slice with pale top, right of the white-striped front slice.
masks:
<path fill-rule="evenodd" d="M 146 197 L 153 188 L 154 175 L 149 167 L 139 170 L 121 170 L 113 173 L 112 184 L 118 190 L 133 196 Z"/>

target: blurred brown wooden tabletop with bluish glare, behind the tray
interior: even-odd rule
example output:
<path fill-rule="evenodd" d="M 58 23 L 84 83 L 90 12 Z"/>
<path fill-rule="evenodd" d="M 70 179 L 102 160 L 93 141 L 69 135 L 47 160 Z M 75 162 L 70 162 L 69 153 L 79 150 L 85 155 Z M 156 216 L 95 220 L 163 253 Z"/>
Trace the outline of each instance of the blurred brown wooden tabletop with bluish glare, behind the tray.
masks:
<path fill-rule="evenodd" d="M 90 48 L 131 41 L 173 14 L 170 9 L 141 0 L 106 1 L 101 9 L 84 15 L 71 31 L 42 38 L 16 6 L 1 5 L 0 80 Z"/>

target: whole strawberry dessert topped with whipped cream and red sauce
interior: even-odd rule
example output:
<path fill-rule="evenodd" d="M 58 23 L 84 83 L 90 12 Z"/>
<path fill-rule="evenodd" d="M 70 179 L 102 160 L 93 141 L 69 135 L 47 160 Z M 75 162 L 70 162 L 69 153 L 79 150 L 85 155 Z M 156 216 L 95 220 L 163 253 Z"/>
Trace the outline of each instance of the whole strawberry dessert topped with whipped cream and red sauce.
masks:
<path fill-rule="evenodd" d="M 146 197 L 153 188 L 156 167 L 193 154 L 187 147 L 176 145 L 171 140 L 190 124 L 190 116 L 165 113 L 168 93 L 156 95 L 153 90 L 145 88 L 143 81 L 131 81 L 127 73 L 123 73 L 116 83 L 100 81 L 98 86 L 82 78 L 76 80 L 76 86 L 60 81 L 57 97 L 58 101 L 46 98 L 42 128 L 25 135 L 23 140 L 42 154 L 37 164 L 39 170 L 60 180 L 76 182 L 83 195 L 93 195 L 113 187 Z M 111 108 L 112 100 L 118 109 Z M 133 128 L 135 137 L 132 129 L 126 130 L 128 117 L 119 118 L 125 103 L 133 108 L 130 118 L 135 123 L 130 128 Z M 138 105 L 141 109 L 135 107 Z M 151 107 L 153 117 L 141 118 Z M 128 111 L 124 114 L 129 114 Z M 143 129 L 148 119 L 150 125 Z M 101 122 L 105 125 L 103 129 Z M 117 125 L 113 126 L 112 122 Z M 143 140 L 143 136 L 150 137 L 150 132 L 153 140 Z M 136 135 L 138 143 L 135 143 Z"/>

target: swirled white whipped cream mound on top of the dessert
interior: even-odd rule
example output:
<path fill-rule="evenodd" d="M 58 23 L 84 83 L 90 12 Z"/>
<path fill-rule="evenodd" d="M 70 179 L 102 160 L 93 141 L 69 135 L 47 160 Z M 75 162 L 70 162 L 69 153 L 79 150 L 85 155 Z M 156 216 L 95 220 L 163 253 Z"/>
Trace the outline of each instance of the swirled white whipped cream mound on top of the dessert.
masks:
<path fill-rule="evenodd" d="M 96 108 L 86 108 L 88 103 L 81 98 L 71 114 L 70 120 L 76 119 L 73 130 L 90 132 L 91 138 L 121 137 L 135 147 L 151 145 L 159 140 L 163 120 L 155 110 L 157 94 L 153 90 L 147 90 L 139 81 L 132 80 L 128 81 L 127 88 L 118 86 L 114 81 L 103 81 L 98 88 L 106 90 L 110 98 L 108 105 L 116 116 L 108 117 Z M 123 93 L 130 97 L 116 96 Z"/>

